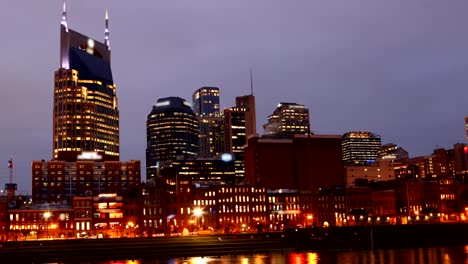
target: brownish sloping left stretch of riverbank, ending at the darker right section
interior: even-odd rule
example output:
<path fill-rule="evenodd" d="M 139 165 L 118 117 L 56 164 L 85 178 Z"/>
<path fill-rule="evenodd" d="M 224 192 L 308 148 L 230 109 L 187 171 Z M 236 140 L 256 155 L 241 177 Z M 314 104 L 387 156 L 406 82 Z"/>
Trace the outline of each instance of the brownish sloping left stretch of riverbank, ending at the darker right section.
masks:
<path fill-rule="evenodd" d="M 0 259 L 19 263 L 171 259 L 288 252 L 281 233 L 38 240 L 2 243 Z"/>

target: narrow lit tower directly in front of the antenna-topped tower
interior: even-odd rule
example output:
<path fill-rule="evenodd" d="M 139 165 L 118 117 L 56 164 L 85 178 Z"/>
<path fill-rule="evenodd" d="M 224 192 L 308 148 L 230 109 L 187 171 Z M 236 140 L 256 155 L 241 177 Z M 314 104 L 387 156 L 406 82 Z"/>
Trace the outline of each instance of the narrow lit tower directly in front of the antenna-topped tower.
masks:
<path fill-rule="evenodd" d="M 234 155 L 234 166 L 238 182 L 244 180 L 244 145 L 247 142 L 246 108 L 224 109 L 224 144 L 226 152 Z"/>

